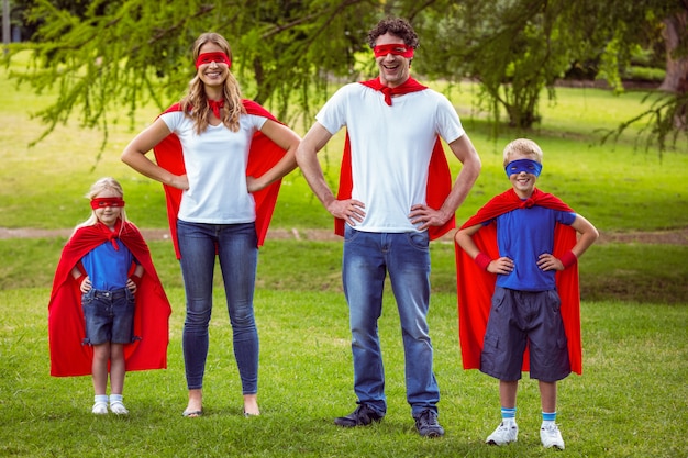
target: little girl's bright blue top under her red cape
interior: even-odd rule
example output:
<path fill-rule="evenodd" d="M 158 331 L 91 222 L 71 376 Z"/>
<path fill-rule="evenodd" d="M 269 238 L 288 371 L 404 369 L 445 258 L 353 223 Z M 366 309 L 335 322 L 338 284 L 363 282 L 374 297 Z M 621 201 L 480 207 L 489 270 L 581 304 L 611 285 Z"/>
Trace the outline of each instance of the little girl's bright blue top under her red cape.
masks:
<path fill-rule="evenodd" d="M 135 259 L 121 241 L 116 243 L 119 250 L 111 242 L 104 242 L 81 258 L 92 288 L 97 290 L 113 291 L 126 287 L 129 269 Z"/>

